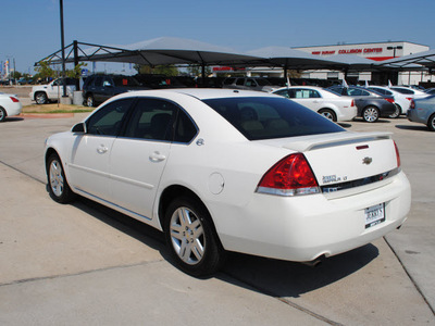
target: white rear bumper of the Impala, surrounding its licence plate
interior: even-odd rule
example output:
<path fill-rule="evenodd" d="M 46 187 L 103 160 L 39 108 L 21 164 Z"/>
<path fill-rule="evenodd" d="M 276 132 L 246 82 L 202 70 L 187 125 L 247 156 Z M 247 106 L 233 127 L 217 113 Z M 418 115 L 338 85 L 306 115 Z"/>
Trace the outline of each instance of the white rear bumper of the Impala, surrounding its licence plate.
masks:
<path fill-rule="evenodd" d="M 248 206 L 227 208 L 225 217 L 214 218 L 216 229 L 231 251 L 288 261 L 335 255 L 383 237 L 406 221 L 411 190 L 405 174 L 380 184 L 346 197 L 339 197 L 340 191 L 294 198 L 256 193 Z M 365 228 L 364 210 L 378 203 L 385 203 L 386 221 Z"/>

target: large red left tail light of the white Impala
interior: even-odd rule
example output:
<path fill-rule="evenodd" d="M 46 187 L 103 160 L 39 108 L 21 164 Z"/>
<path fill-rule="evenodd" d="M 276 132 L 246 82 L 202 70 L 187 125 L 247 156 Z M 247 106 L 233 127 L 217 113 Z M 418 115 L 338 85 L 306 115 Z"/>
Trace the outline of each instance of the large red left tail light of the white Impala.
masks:
<path fill-rule="evenodd" d="M 257 192 L 277 196 L 319 193 L 315 176 L 302 153 L 288 155 L 261 178 Z"/>

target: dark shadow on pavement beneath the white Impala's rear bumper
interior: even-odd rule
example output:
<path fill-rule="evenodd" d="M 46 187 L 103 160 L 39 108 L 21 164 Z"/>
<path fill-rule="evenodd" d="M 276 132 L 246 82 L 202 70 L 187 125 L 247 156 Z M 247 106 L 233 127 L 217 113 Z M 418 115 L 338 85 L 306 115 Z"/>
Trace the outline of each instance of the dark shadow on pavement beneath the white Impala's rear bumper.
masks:
<path fill-rule="evenodd" d="M 231 253 L 224 273 L 243 283 L 237 283 L 238 286 L 246 285 L 272 297 L 298 298 L 356 273 L 378 254 L 378 249 L 369 243 L 324 259 L 315 266 L 309 266 L 297 262 Z"/>

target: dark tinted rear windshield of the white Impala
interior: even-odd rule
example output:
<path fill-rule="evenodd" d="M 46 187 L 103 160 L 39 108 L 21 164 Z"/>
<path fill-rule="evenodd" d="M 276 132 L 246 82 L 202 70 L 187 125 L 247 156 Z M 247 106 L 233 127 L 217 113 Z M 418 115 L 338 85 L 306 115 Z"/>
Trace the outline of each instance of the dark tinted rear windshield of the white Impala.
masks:
<path fill-rule="evenodd" d="M 284 98 L 223 98 L 202 101 L 249 140 L 345 131 L 322 115 Z"/>

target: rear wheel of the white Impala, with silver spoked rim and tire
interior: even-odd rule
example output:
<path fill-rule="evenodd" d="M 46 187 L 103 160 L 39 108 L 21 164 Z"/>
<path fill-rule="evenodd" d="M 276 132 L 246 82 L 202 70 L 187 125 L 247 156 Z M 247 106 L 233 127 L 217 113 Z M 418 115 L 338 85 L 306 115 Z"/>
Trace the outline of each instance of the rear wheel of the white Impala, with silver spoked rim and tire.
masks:
<path fill-rule="evenodd" d="M 213 274 L 224 262 L 210 214 L 196 199 L 181 197 L 169 204 L 164 234 L 177 266 L 191 276 Z"/>

